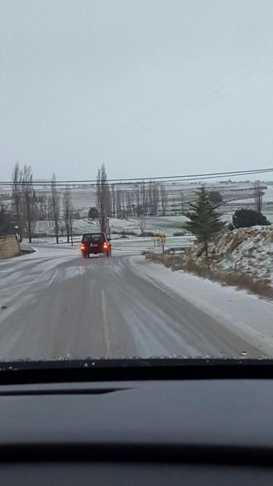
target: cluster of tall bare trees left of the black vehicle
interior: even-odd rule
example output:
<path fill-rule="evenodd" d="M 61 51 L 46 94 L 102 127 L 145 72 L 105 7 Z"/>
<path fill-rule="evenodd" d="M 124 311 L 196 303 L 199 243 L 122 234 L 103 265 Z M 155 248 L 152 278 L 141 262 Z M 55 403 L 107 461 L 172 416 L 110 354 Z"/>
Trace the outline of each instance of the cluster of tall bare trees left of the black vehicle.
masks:
<path fill-rule="evenodd" d="M 30 166 L 19 163 L 12 173 L 12 210 L 15 216 L 17 233 L 31 243 L 35 224 L 38 220 L 53 221 L 56 242 L 59 242 L 62 224 L 64 224 L 67 242 L 72 238 L 73 205 L 71 189 L 67 185 L 60 194 L 55 174 L 51 178 L 49 194 L 37 194 L 33 185 L 33 171 Z"/>

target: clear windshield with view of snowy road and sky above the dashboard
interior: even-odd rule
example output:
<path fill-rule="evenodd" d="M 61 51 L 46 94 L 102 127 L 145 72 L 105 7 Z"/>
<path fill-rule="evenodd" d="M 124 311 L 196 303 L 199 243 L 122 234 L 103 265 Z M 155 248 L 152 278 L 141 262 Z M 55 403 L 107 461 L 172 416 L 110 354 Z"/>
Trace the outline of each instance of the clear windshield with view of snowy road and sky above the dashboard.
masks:
<path fill-rule="evenodd" d="M 0 361 L 273 358 L 272 0 L 1 0 Z"/>

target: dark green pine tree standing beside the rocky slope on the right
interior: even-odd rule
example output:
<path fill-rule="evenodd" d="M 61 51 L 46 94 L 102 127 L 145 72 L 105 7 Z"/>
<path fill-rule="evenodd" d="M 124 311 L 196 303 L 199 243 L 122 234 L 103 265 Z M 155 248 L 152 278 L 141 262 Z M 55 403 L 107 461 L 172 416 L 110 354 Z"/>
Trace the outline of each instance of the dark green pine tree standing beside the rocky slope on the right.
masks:
<path fill-rule="evenodd" d="M 197 200 L 189 203 L 189 207 L 191 210 L 186 212 L 186 217 L 190 221 L 186 222 L 186 229 L 196 236 L 197 242 L 204 243 L 206 265 L 209 268 L 209 241 L 223 228 L 224 223 L 217 211 L 218 206 L 211 203 L 204 185 L 197 191 Z"/>

